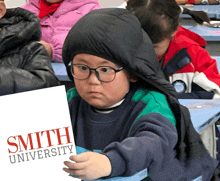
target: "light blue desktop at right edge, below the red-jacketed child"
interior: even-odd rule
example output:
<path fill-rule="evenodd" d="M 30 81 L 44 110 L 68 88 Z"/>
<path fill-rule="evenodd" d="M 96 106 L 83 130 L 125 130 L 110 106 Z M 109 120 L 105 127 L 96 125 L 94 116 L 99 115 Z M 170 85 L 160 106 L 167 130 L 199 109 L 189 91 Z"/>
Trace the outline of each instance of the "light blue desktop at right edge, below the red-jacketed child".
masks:
<path fill-rule="evenodd" d="M 179 102 L 189 109 L 193 126 L 197 132 L 201 132 L 220 119 L 219 99 L 180 99 Z"/>

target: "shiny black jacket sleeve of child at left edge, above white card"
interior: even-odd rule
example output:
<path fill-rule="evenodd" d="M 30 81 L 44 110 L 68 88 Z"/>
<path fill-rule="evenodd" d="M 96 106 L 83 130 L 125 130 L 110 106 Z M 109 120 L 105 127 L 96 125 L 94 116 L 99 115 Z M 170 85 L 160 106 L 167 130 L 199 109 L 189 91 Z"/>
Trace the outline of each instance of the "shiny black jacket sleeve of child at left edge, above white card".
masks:
<path fill-rule="evenodd" d="M 0 95 L 18 93 L 59 85 L 45 48 L 32 42 L 20 50 L 20 55 L 8 55 L 0 66 Z"/>

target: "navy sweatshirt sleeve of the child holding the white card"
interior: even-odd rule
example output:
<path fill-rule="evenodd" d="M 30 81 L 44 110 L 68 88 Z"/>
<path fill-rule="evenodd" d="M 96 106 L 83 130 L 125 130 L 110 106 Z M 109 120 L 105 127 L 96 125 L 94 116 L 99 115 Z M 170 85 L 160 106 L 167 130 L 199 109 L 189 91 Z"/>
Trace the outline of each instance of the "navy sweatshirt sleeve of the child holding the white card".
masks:
<path fill-rule="evenodd" d="M 134 124 L 130 137 L 107 146 L 103 152 L 112 164 L 110 177 L 131 176 L 148 169 L 150 178 L 187 180 L 185 170 L 175 157 L 175 126 L 158 113 L 149 113 Z"/>

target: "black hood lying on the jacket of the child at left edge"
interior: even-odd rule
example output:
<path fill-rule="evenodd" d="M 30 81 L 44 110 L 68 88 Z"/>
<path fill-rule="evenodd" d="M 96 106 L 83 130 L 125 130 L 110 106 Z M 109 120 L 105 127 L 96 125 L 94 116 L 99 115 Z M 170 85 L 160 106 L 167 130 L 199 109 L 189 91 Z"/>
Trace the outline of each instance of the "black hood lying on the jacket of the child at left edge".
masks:
<path fill-rule="evenodd" d="M 0 28 L 0 55 L 41 38 L 38 17 L 22 8 L 7 9 Z"/>

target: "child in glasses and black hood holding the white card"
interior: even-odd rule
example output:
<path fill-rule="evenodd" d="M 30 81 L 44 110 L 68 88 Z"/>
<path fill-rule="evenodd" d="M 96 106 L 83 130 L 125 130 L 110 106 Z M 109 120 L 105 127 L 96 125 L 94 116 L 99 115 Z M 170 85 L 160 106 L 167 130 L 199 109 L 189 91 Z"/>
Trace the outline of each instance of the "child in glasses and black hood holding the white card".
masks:
<path fill-rule="evenodd" d="M 173 111 L 173 86 L 132 13 L 107 8 L 85 15 L 66 37 L 63 60 L 76 86 L 67 97 L 78 153 L 64 171 L 83 180 L 210 180 L 218 162 Z"/>

